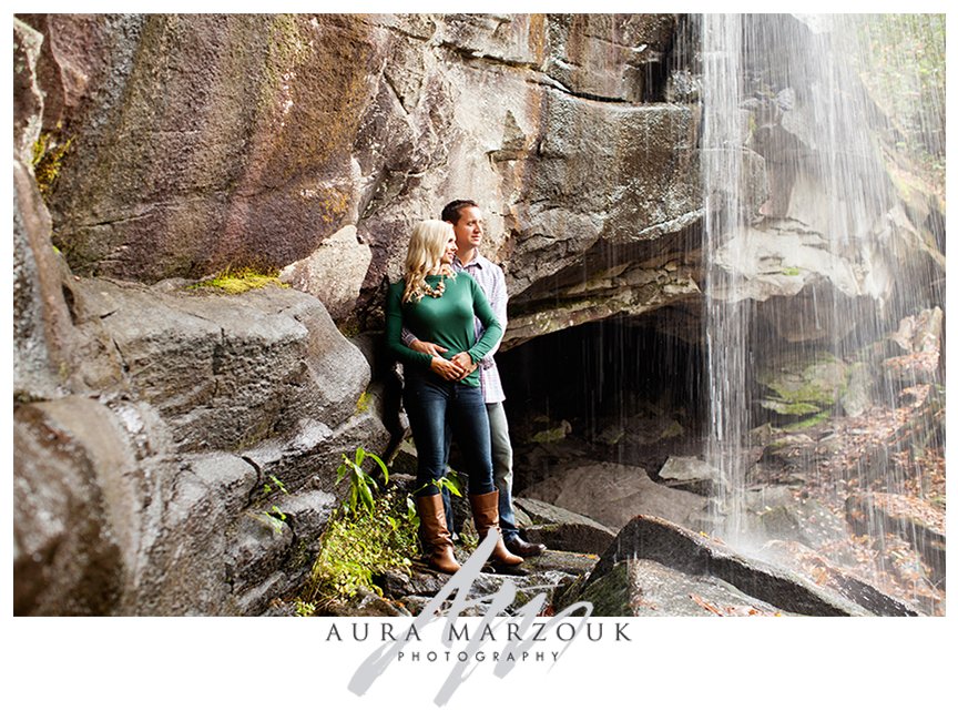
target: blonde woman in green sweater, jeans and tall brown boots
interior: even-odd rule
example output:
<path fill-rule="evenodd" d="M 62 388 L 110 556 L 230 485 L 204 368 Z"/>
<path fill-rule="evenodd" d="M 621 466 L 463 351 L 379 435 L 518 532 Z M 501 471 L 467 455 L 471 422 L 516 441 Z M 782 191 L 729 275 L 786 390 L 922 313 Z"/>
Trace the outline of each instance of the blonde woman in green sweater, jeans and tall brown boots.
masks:
<path fill-rule="evenodd" d="M 418 457 L 416 508 L 429 565 L 455 573 L 452 537 L 439 488 L 432 483 L 446 474 L 447 433 L 451 430 L 469 475 L 469 505 L 480 541 L 499 535 L 499 491 L 492 483 L 489 418 L 479 387 L 477 364 L 502 337 L 479 284 L 468 273 L 452 271 L 456 234 L 444 221 L 422 221 L 412 229 L 404 277 L 389 286 L 386 301 L 386 343 L 402 362 L 406 387 L 402 400 Z M 476 337 L 475 319 L 485 327 Z M 417 353 L 401 339 L 404 326 L 417 337 L 448 348 L 441 357 Z M 500 536 L 491 560 L 518 566 Z"/>

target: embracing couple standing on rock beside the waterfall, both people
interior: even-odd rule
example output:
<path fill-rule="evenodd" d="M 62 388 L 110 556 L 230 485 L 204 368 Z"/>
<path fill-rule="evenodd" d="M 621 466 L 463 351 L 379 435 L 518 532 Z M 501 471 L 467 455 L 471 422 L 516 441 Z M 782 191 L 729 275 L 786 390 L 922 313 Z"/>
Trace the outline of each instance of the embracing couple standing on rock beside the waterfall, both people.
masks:
<path fill-rule="evenodd" d="M 435 483 L 456 438 L 479 540 L 501 527 L 490 560 L 514 567 L 546 547 L 519 536 L 512 509 L 512 446 L 492 358 L 506 327 L 506 276 L 479 253 L 482 212 L 473 201 L 452 201 L 441 217 L 412 229 L 404 277 L 386 302 L 386 342 L 404 364 L 402 402 L 418 457 L 420 536 L 434 569 L 459 570 L 448 494 Z"/>

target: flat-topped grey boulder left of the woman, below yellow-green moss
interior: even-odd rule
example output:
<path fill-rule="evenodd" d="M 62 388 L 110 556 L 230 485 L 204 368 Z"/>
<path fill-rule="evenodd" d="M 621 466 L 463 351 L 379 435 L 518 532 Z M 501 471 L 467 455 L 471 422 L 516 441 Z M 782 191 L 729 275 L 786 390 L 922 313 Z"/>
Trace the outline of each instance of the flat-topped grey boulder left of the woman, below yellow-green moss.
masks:
<path fill-rule="evenodd" d="M 313 419 L 335 428 L 369 383 L 363 354 L 323 304 L 275 286 L 240 296 L 79 284 L 124 376 L 170 423 L 177 448 L 240 450 Z"/>

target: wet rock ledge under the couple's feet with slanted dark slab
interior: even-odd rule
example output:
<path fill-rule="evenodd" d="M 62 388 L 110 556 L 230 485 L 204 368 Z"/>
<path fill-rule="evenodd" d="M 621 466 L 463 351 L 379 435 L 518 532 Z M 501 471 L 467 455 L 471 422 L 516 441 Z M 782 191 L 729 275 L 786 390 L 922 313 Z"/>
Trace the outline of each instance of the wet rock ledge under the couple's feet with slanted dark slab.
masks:
<path fill-rule="evenodd" d="M 518 613 L 530 601 L 542 616 L 582 602 L 590 603 L 598 617 L 918 615 L 837 569 L 833 569 L 833 578 L 840 581 L 839 591 L 661 518 L 636 516 L 613 535 L 591 519 L 543 501 L 518 499 L 517 504 L 529 514 L 529 538 L 548 538 L 551 548 L 508 573 L 483 567 L 469 589 L 463 616 L 485 616 L 493 605 L 503 602 L 503 596 L 510 600 L 509 593 L 511 602 L 502 611 L 506 615 Z M 592 552 L 603 539 L 608 541 L 603 552 Z M 467 561 L 461 547 L 457 557 Z M 381 596 L 360 592 L 326 612 L 415 616 L 450 578 L 456 577 L 414 563 L 408 571 L 390 571 L 377 579 Z M 446 601 L 447 609 L 449 606 Z M 275 603 L 269 612 L 293 615 L 295 607 Z"/>

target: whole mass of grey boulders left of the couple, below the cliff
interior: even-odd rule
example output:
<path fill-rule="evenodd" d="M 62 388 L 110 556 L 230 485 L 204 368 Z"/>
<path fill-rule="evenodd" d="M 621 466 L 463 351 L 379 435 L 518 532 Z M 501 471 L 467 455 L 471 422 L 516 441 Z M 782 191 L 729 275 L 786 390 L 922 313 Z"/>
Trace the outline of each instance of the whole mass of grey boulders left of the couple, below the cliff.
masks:
<path fill-rule="evenodd" d="M 17 172 L 14 612 L 265 612 L 309 572 L 343 454 L 388 443 L 363 353 L 297 291 L 72 276 Z"/>

